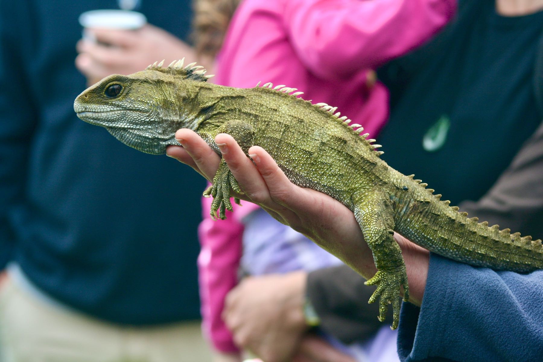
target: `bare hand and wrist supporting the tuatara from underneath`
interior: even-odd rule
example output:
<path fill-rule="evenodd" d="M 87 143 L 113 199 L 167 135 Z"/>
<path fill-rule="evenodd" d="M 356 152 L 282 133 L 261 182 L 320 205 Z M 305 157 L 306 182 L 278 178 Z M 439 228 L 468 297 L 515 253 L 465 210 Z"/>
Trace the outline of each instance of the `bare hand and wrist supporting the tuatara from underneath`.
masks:
<path fill-rule="evenodd" d="M 188 164 L 207 180 L 212 180 L 220 157 L 191 130 L 178 130 L 175 138 L 183 148 L 169 146 L 167 155 Z M 371 250 L 347 207 L 328 195 L 294 185 L 261 147 L 249 149 L 251 161 L 231 136 L 219 134 L 215 142 L 243 190 L 244 194 L 236 197 L 260 205 L 277 220 L 290 225 L 342 259 L 366 279 L 375 274 Z M 409 301 L 420 306 L 428 275 L 428 251 L 397 233 L 394 238 L 402 249 L 406 263 Z"/>

